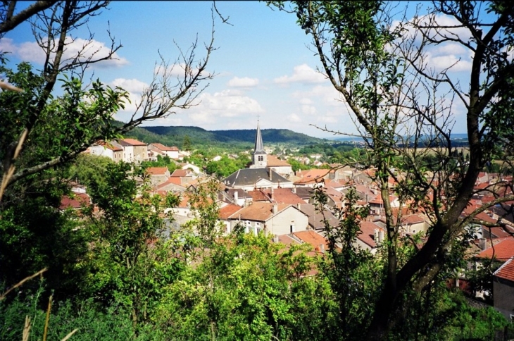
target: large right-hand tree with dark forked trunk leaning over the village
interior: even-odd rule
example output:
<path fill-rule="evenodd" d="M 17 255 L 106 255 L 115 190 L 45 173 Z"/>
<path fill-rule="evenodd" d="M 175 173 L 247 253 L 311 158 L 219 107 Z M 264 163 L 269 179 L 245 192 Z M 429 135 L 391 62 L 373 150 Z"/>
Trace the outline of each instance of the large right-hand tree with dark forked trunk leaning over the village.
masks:
<path fill-rule="evenodd" d="M 506 51 L 513 46 L 513 7 L 496 1 L 438 1 L 425 13 L 397 23 L 397 9 L 383 1 L 295 1 L 289 8 L 282 1 L 274 4 L 296 13 L 299 26 L 312 37 L 323 72 L 358 122 L 368 147 L 365 164 L 377 168 L 373 180 L 384 202 L 387 263 L 367 337 L 381 340 L 403 324 L 399 312 L 410 301 L 406 297 L 426 293 L 432 280 L 460 266 L 451 260 L 451 250 L 487 206 L 465 219 L 460 213 L 487 161 L 503 159 L 512 147 L 514 63 Z M 457 35 L 456 30 L 462 31 Z M 451 44 L 472 59 L 465 89 L 454 69 L 431 69 L 428 60 L 430 49 Z M 465 108 L 470 144 L 465 164 L 452 159 L 453 104 L 441 105 L 449 98 Z M 428 173 L 420 160 L 432 152 L 439 162 Z M 389 200 L 389 178 L 399 182 L 400 209 L 413 201 L 432 219 L 425 244 L 405 262 L 400 261 L 402 241 Z M 491 205 L 511 199 L 499 197 Z"/>

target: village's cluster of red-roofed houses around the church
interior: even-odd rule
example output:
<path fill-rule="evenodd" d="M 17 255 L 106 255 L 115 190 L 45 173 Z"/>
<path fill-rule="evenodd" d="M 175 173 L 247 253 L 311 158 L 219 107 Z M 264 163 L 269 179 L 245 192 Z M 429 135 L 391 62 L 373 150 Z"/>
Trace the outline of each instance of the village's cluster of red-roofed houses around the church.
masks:
<path fill-rule="evenodd" d="M 158 155 L 181 161 L 187 155 L 177 147 L 166 147 L 159 143 L 145 144 L 133 139 L 99 143 L 87 152 L 107 156 L 116 162 L 134 163 L 155 160 Z M 194 217 L 189 205 L 189 194 L 208 179 L 198 166 L 189 163 L 180 166 L 173 173 L 166 167 L 146 169 L 155 194 L 180 194 L 180 204 L 168 209 L 173 212 L 172 228 L 180 228 Z M 274 242 L 286 245 L 309 243 L 313 246 L 313 252 L 323 253 L 328 247 L 324 237 L 323 216 L 332 228 L 337 228 L 339 218 L 334 216 L 334 211 L 337 211 L 335 208 L 341 208 L 345 195 L 353 187 L 358 196 L 358 205 L 370 208 L 370 216 L 360 223 L 361 233 L 357 236 L 356 247 L 375 254 L 387 234 L 382 197 L 377 184 L 372 180 L 373 172 L 372 168 L 361 171 L 343 167 L 294 173 L 289 163 L 265 151 L 261 130 L 257 126 L 251 165 L 239 169 L 220 182 L 217 204 L 222 232 L 231 233 L 239 225 L 244 227 L 246 233 L 267 233 L 273 236 Z M 496 196 L 512 194 L 510 187 L 505 185 L 512 184 L 512 180 L 512 177 L 501 178 L 499 175 L 481 173 L 475 184 L 477 194 L 462 213 L 462 218 L 495 200 L 493 193 Z M 423 211 L 408 206 L 400 209 L 399 199 L 393 190 L 395 185 L 393 180 L 389 182 L 390 202 L 400 232 L 403 235 L 425 235 L 430 227 L 430 219 Z M 327 207 L 323 214 L 315 210 L 312 199 L 316 187 L 321 187 L 327 195 Z M 89 204 L 89 198 L 80 186 L 75 187 L 74 192 L 77 197 L 64 198 L 61 208 L 79 208 L 82 203 Z M 484 259 L 494 258 L 503 263 L 494 273 L 494 292 L 487 294 L 494 294 L 494 306 L 507 318 L 514 314 L 514 216 L 508 213 L 511 204 L 507 202 L 482 211 L 475 217 L 482 224 L 470 223 L 468 226 L 476 235 L 470 247 L 470 268 L 479 267 Z M 469 292 L 468 280 L 464 275 L 452 284 Z M 484 294 L 469 293 L 477 297 Z"/>

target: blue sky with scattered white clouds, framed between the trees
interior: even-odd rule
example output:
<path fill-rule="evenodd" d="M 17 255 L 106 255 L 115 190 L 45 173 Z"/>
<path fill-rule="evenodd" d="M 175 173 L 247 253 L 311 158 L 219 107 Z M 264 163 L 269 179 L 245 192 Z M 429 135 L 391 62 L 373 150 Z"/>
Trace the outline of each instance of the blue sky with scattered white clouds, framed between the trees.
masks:
<path fill-rule="evenodd" d="M 132 101 L 137 101 L 152 80 L 159 52 L 174 61 L 177 46 L 188 49 L 196 37 L 200 44 L 209 41 L 211 6 L 210 1 L 113 1 L 110 10 L 89 22 L 89 30 L 94 32 L 92 51 L 101 54 L 106 50 L 107 30 L 123 48 L 115 60 L 94 66 L 94 77 L 123 87 Z M 214 79 L 199 96 L 198 105 L 146 125 L 252 129 L 259 118 L 263 129 L 287 128 L 315 137 L 333 135 L 313 125 L 356 132 L 339 94 L 317 72 L 320 63 L 308 48 L 309 37 L 296 25 L 296 16 L 272 11 L 256 1 L 218 1 L 217 6 L 232 25 L 215 18 L 214 45 L 218 49 L 208 63 Z M 77 36 L 85 37 L 80 32 Z M 75 44 L 81 46 L 82 42 L 77 39 Z M 1 39 L 0 49 L 10 52 L 11 63 L 24 60 L 37 67 L 44 58 L 29 25 L 9 32 Z M 199 49 L 197 56 L 202 57 L 203 52 Z M 464 75 L 470 67 L 469 56 L 458 46 L 434 49 L 430 58 L 437 68 L 461 58 L 456 72 Z M 127 106 L 117 117 L 127 118 L 132 109 Z M 465 132 L 459 125 L 453 131 Z"/>

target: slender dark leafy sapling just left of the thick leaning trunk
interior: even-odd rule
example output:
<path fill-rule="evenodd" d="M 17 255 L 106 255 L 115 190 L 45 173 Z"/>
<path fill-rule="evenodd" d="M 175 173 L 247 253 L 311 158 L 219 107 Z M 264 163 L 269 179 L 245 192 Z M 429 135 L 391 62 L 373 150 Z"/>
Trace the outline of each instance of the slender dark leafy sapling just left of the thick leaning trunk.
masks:
<path fill-rule="evenodd" d="M 316 209 L 322 213 L 327 204 L 327 195 L 322 187 L 315 189 L 313 198 Z M 357 199 L 351 187 L 343 206 L 336 209 L 336 216 L 340 218 L 337 228 L 332 228 L 324 220 L 330 257 L 322 263 L 322 274 L 337 297 L 340 328 L 334 333 L 337 335 L 335 338 L 341 340 L 361 340 L 362 330 L 368 328 L 370 322 L 367 316 L 372 315 L 375 308 L 383 275 L 381 259 L 356 246 L 357 235 L 361 233 L 359 224 L 368 216 L 368 208 L 358 208 Z"/>

